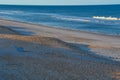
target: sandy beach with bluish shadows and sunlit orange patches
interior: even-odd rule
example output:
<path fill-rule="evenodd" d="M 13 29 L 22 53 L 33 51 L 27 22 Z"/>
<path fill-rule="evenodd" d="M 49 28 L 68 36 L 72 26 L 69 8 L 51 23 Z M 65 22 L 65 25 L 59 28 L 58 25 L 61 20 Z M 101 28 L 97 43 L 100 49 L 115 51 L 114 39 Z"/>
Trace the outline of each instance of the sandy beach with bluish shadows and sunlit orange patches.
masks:
<path fill-rule="evenodd" d="M 120 37 L 0 19 L 0 79 L 120 80 Z"/>

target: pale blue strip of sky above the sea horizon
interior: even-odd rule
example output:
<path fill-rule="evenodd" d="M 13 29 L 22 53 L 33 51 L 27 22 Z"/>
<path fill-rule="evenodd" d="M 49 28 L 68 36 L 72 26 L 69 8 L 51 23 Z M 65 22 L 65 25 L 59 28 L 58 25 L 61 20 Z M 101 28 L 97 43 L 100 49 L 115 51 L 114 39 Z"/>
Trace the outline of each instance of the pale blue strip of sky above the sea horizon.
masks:
<path fill-rule="evenodd" d="M 14 5 L 101 5 L 101 4 L 120 4 L 120 0 L 0 0 L 0 4 L 14 4 Z"/>

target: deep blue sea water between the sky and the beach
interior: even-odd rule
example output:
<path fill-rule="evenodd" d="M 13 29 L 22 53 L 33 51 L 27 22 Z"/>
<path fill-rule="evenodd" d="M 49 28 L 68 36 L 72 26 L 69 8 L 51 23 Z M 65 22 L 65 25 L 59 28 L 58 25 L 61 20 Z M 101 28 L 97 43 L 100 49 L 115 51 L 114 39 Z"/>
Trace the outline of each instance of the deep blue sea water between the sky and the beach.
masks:
<path fill-rule="evenodd" d="M 120 36 L 120 5 L 0 5 L 0 18 Z"/>

